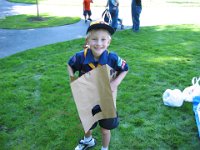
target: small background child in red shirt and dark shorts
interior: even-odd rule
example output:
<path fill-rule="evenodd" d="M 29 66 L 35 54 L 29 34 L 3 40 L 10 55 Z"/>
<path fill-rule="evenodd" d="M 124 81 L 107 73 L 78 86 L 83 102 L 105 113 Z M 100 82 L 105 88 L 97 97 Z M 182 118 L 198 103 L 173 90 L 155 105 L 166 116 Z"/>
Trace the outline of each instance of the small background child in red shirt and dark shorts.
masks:
<path fill-rule="evenodd" d="M 90 9 L 90 3 L 93 3 L 92 0 L 83 0 L 83 15 L 85 17 L 85 23 L 87 20 L 92 21 L 90 16 L 92 15 L 91 9 Z M 88 15 L 88 19 L 87 19 Z"/>

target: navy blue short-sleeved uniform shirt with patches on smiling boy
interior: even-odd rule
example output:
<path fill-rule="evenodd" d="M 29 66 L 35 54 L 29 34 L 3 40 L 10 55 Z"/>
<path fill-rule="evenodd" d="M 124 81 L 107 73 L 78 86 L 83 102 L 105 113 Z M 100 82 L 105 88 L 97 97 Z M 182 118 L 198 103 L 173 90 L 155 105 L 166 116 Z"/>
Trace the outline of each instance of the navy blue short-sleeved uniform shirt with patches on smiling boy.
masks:
<path fill-rule="evenodd" d="M 84 56 L 84 50 L 82 50 L 72 56 L 68 62 L 69 66 L 71 66 L 74 72 L 79 71 L 79 76 L 92 70 L 92 68 L 89 66 L 89 63 L 93 63 L 95 66 L 97 66 L 98 64 L 107 64 L 115 71 L 119 72 L 128 71 L 127 63 L 117 54 L 113 52 L 108 52 L 107 50 L 105 50 L 101 54 L 98 62 L 95 61 L 92 51 L 90 49 L 88 49 L 86 56 Z"/>

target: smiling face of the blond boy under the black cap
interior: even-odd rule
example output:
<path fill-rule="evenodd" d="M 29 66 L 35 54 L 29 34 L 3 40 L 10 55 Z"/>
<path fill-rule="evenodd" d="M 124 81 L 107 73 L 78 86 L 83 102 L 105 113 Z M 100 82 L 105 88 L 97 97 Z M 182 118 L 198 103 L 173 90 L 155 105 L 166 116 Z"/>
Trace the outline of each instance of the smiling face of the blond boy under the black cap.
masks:
<path fill-rule="evenodd" d="M 110 45 L 111 37 L 106 30 L 93 30 L 86 40 L 94 57 L 98 59 Z"/>

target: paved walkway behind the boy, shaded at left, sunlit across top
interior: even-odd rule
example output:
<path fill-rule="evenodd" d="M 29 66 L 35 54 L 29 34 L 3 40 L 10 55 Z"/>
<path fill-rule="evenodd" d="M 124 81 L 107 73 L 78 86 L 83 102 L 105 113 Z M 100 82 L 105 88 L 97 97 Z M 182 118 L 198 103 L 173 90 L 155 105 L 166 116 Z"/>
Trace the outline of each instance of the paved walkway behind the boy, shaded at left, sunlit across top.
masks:
<path fill-rule="evenodd" d="M 50 6 L 40 6 L 43 10 L 55 9 Z M 93 19 L 99 19 L 105 8 L 95 7 Z M 58 11 L 59 10 L 59 11 Z M 82 17 L 80 7 L 59 7 L 55 12 L 62 12 L 67 16 L 73 12 L 75 16 Z M 36 11 L 35 5 L 14 4 L 6 0 L 0 0 L 0 18 L 8 15 L 23 14 Z M 163 24 L 200 24 L 199 7 L 144 7 L 141 14 L 141 26 L 153 26 Z M 132 25 L 131 10 L 129 7 L 120 8 L 120 18 L 126 28 Z M 0 29 L 0 58 L 25 51 L 30 48 L 77 39 L 85 36 L 88 23 L 83 20 L 76 24 L 59 27 L 27 29 L 27 30 L 6 30 Z"/>

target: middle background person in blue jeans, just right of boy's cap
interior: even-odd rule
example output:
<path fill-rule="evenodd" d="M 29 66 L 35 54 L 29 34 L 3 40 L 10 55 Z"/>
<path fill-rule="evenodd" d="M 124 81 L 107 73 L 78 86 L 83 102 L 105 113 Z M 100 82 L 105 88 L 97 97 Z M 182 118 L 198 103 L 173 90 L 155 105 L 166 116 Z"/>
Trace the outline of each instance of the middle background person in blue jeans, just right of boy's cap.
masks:
<path fill-rule="evenodd" d="M 118 0 L 108 0 L 106 7 L 109 8 L 109 12 L 112 17 L 111 26 L 116 31 L 118 26 L 118 15 L 119 15 L 119 1 Z"/>

